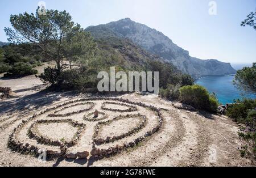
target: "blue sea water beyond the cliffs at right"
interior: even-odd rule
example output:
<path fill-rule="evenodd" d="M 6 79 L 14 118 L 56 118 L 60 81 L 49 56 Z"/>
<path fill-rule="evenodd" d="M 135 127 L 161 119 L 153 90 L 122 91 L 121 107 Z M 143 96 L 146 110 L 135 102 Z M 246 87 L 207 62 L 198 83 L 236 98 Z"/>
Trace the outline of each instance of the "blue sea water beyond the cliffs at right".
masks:
<path fill-rule="evenodd" d="M 232 64 L 234 69 L 240 70 L 251 64 Z M 217 95 L 218 101 L 222 104 L 233 103 L 234 99 L 251 98 L 256 99 L 255 94 L 245 94 L 233 85 L 235 74 L 223 76 L 205 76 L 196 80 L 196 84 L 204 86 L 208 91 Z"/>

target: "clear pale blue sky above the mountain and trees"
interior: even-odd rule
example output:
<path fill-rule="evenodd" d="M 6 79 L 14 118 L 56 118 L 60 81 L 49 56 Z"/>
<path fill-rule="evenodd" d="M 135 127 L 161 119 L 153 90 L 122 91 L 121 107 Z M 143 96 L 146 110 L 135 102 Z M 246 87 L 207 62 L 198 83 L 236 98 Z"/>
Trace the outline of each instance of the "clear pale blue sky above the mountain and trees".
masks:
<path fill-rule="evenodd" d="M 82 27 L 131 18 L 164 33 L 193 57 L 230 63 L 256 62 L 256 31 L 240 23 L 256 10 L 256 0 L 44 0 L 47 9 L 67 10 Z M 35 12 L 36 0 L 0 1 L 0 41 L 11 14 Z"/>

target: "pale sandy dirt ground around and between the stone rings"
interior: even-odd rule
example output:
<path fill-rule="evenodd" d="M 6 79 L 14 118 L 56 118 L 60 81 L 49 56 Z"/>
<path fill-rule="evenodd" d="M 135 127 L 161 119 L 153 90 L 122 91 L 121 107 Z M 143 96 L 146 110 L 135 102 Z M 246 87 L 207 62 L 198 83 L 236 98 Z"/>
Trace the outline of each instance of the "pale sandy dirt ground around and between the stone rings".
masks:
<path fill-rule="evenodd" d="M 143 102 L 147 105 L 154 105 L 164 108 L 163 126 L 159 132 L 153 134 L 134 149 L 123 151 L 120 154 L 102 160 L 88 159 L 54 159 L 47 162 L 40 162 L 38 158 L 30 154 L 20 154 L 12 151 L 7 146 L 8 138 L 13 129 L 22 122 L 23 118 L 30 117 L 33 113 L 42 109 L 63 103 L 64 101 L 89 97 L 89 94 L 81 95 L 75 92 L 46 92 L 44 84 L 36 77 L 29 76 L 19 79 L 0 79 L 1 87 L 11 87 L 15 95 L 6 100 L 0 101 L 0 165 L 1 166 L 253 166 L 249 159 L 241 158 L 240 151 L 242 142 L 238 138 L 239 126 L 225 116 L 211 115 L 205 112 L 191 112 L 183 109 L 176 109 L 171 101 L 158 98 L 155 95 L 126 94 L 115 97 L 122 97 L 131 101 Z M 114 97 L 114 96 L 112 96 Z M 93 109 L 101 111 L 102 101 L 94 101 L 96 106 Z M 111 108 L 118 108 L 108 105 Z M 80 106 L 75 110 L 81 109 Z M 62 112 L 69 112 L 69 109 Z M 79 143 L 71 148 L 71 151 L 84 151 L 91 149 L 93 129 L 97 122 L 89 122 L 83 119 L 92 111 L 78 113 L 67 117 L 86 124 L 85 132 Z M 106 120 L 111 120 L 119 115 L 112 111 L 108 113 Z M 154 112 L 143 107 L 138 111 L 147 116 L 147 124 L 138 133 L 127 138 L 120 139 L 115 144 L 122 144 L 143 135 L 147 130 L 153 128 L 157 123 L 157 116 Z M 126 115 L 127 113 L 122 113 Z M 46 115 L 38 119 L 46 119 Z M 55 117 L 51 119 L 56 119 Z M 115 123 L 116 122 L 116 123 Z M 134 128 L 140 121 L 136 118 L 129 123 L 129 120 L 112 122 L 108 127 L 101 130 L 101 137 L 109 134 L 120 134 Z M 32 124 L 32 122 L 30 123 Z M 28 124 L 20 131 L 18 138 L 25 143 L 38 144 L 35 140 L 28 138 Z M 40 133 L 52 138 L 71 139 L 75 133 L 74 128 L 67 124 L 40 125 Z M 68 129 L 68 130 L 67 130 Z M 38 144 L 39 145 L 39 144 Z M 100 149 L 108 148 L 113 143 L 106 143 L 98 146 Z M 55 150 L 54 146 L 40 145 L 47 149 Z"/>

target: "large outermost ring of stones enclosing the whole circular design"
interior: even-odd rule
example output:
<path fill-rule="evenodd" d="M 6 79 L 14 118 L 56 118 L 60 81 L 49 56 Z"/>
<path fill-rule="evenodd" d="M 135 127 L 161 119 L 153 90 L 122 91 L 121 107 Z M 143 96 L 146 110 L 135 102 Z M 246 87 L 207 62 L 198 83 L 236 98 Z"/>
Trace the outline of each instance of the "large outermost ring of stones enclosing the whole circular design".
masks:
<path fill-rule="evenodd" d="M 162 113 L 160 112 L 161 109 L 158 109 L 158 108 L 154 107 L 153 105 L 146 105 L 146 104 L 141 103 L 141 102 L 130 101 L 128 99 L 122 99 L 122 98 L 90 97 L 90 98 L 85 98 L 85 99 L 77 99 L 77 100 L 73 100 L 73 101 L 68 101 L 68 102 L 64 102 L 63 104 L 56 105 L 55 107 L 46 108 L 46 109 L 44 109 L 43 111 L 41 111 L 39 113 L 34 113 L 34 115 L 32 115 L 31 117 L 28 117 L 26 120 L 22 120 L 22 123 L 20 123 L 18 126 L 16 126 L 16 128 L 14 128 L 13 132 L 11 132 L 11 134 L 9 136 L 8 146 L 12 150 L 16 150 L 16 151 L 20 151 L 20 152 L 30 152 L 31 154 L 34 154 L 35 156 L 38 156 L 39 155 L 39 153 L 38 153 L 39 148 L 38 147 L 30 145 L 28 143 L 24 144 L 16 138 L 17 133 L 22 128 L 24 128 L 24 126 L 26 126 L 27 122 L 29 122 L 31 120 L 34 120 L 36 117 L 44 115 L 47 112 L 51 112 L 54 109 L 63 107 L 64 105 L 72 104 L 72 103 L 76 103 L 76 102 L 80 102 L 80 101 L 91 101 L 91 100 L 114 100 L 114 101 L 120 101 L 120 102 L 123 102 L 123 103 L 134 104 L 134 105 L 138 105 L 138 106 L 141 106 L 141 107 L 150 108 L 152 111 L 157 112 L 158 117 L 159 117 L 159 124 L 155 128 L 153 128 L 152 130 L 145 133 L 143 137 L 139 137 L 137 139 L 134 139 L 134 141 L 132 141 L 132 142 L 124 143 L 121 146 L 116 145 L 115 147 L 109 147 L 109 149 L 96 149 L 96 147 L 93 146 L 93 149 L 92 149 L 92 151 L 90 151 L 90 154 L 92 156 L 94 156 L 95 158 L 101 159 L 101 158 L 104 158 L 104 157 L 109 157 L 111 155 L 118 154 L 122 150 L 129 149 L 129 147 L 134 147 L 134 146 L 138 145 L 140 142 L 144 141 L 147 137 L 151 136 L 155 132 L 158 132 L 159 129 L 162 127 L 163 117 L 162 117 Z M 61 149 L 63 149 L 63 147 L 60 147 L 60 150 Z M 48 156 L 49 157 L 57 157 L 57 158 L 58 157 L 65 157 L 65 155 L 67 153 L 67 150 L 68 149 L 64 149 L 64 152 L 62 150 L 61 150 L 61 152 L 47 150 L 47 157 Z M 78 153 L 79 152 L 77 152 L 77 154 Z"/>

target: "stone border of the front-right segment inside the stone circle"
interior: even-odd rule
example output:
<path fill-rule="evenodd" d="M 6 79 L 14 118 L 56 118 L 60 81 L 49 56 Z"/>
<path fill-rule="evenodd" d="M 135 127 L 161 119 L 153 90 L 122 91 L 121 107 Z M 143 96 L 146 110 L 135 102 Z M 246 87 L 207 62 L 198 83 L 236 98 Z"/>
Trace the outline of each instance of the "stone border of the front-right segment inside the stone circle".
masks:
<path fill-rule="evenodd" d="M 113 136 L 113 137 L 106 137 L 105 139 L 102 139 L 102 138 L 97 139 L 98 133 L 100 132 L 100 129 L 102 128 L 102 126 L 107 125 L 107 124 L 111 124 L 114 121 L 123 120 L 127 117 L 132 117 L 132 118 L 140 117 L 142 122 L 139 122 L 138 126 L 136 126 L 135 128 L 132 128 L 127 133 L 123 133 L 121 135 L 117 135 L 117 136 Z M 118 117 L 113 118 L 113 120 L 98 122 L 98 124 L 94 128 L 93 142 L 96 143 L 96 145 L 102 145 L 104 143 L 118 141 L 119 139 L 123 139 L 125 137 L 128 137 L 128 136 L 134 134 L 134 133 L 137 133 L 139 130 L 144 128 L 144 126 L 146 126 L 146 121 L 147 121 L 147 117 L 138 113 L 137 115 L 126 115 L 126 116 L 120 115 Z"/>

